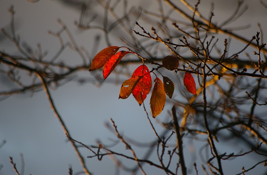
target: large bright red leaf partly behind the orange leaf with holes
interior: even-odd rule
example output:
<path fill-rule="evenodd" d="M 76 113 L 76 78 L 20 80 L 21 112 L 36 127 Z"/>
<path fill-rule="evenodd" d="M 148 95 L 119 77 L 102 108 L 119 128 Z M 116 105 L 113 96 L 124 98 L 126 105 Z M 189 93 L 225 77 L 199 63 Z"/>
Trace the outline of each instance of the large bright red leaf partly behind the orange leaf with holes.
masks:
<path fill-rule="evenodd" d="M 134 76 L 142 77 L 132 92 L 133 97 L 141 106 L 143 101 L 147 98 L 147 94 L 150 92 L 152 87 L 152 79 L 147 66 L 144 64 L 135 69 L 132 74 L 132 77 Z"/>

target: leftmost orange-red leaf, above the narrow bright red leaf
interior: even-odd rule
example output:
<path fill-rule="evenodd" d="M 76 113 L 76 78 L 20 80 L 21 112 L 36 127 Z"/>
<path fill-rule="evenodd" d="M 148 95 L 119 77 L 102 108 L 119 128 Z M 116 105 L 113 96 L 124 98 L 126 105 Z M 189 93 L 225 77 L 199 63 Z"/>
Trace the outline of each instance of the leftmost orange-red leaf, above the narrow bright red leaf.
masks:
<path fill-rule="evenodd" d="M 104 64 L 108 61 L 108 59 L 115 55 L 115 53 L 119 50 L 118 46 L 110 46 L 103 50 L 101 50 L 96 56 L 93 58 L 91 63 L 91 68 L 89 71 L 100 69 L 104 66 Z"/>

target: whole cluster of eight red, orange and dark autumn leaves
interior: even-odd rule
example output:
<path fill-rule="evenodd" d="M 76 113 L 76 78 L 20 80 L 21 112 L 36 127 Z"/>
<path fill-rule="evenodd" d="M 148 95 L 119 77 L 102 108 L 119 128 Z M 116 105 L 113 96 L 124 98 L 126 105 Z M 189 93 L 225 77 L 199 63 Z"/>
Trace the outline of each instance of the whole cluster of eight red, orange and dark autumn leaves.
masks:
<path fill-rule="evenodd" d="M 124 48 L 128 49 L 129 51 L 118 52 L 120 48 L 121 47 L 118 46 L 110 46 L 101 50 L 93 58 L 89 71 L 98 70 L 103 67 L 103 77 L 104 79 L 106 79 L 126 54 L 133 53 L 138 55 L 127 47 Z M 179 60 L 175 56 L 166 56 L 162 60 L 162 65 L 159 65 L 157 68 L 149 71 L 148 67 L 144 64 L 144 60 L 146 59 L 144 59 L 140 55 L 138 56 L 143 59 L 143 64 L 135 69 L 130 79 L 127 79 L 122 83 L 119 99 L 126 99 L 132 94 L 135 100 L 141 106 L 152 87 L 152 79 L 150 73 L 152 73 L 154 70 L 158 70 L 161 67 L 165 67 L 166 69 L 173 71 L 178 68 Z M 162 75 L 162 82 L 156 74 L 155 76 L 155 83 L 150 98 L 150 109 L 153 118 L 155 118 L 162 112 L 166 103 L 166 95 L 169 98 L 172 98 L 172 95 L 174 93 L 174 83 L 170 78 Z M 191 73 L 186 72 L 184 74 L 183 83 L 188 92 L 197 95 L 195 80 Z"/>

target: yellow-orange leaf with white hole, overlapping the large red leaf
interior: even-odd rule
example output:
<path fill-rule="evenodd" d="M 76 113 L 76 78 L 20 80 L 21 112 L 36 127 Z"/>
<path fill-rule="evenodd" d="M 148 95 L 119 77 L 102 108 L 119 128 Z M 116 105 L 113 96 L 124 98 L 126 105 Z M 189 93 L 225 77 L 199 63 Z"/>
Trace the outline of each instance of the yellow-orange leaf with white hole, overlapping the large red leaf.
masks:
<path fill-rule="evenodd" d="M 131 77 L 130 79 L 127 79 L 126 81 L 124 81 L 120 88 L 119 99 L 128 98 L 129 95 L 133 92 L 133 89 L 135 88 L 135 86 L 137 85 L 140 79 L 141 77 L 136 76 L 136 77 Z"/>

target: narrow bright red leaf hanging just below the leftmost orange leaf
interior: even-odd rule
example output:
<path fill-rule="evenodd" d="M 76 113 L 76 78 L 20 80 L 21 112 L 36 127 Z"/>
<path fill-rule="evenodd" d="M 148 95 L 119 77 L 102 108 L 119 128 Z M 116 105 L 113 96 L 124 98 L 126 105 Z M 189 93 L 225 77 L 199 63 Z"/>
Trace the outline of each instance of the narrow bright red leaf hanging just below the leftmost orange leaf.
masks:
<path fill-rule="evenodd" d="M 124 55 L 132 53 L 127 51 L 119 51 L 115 55 L 112 55 L 108 61 L 105 63 L 103 67 L 103 77 L 106 79 L 108 75 L 115 69 L 115 67 L 119 64 L 120 60 Z"/>

